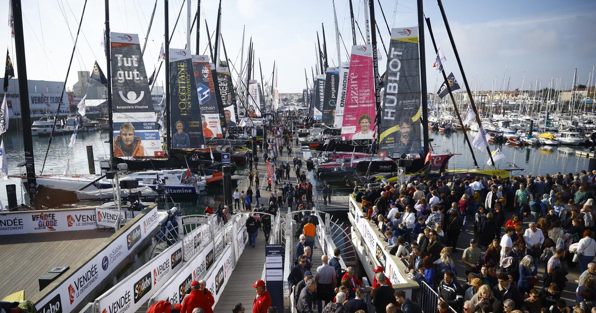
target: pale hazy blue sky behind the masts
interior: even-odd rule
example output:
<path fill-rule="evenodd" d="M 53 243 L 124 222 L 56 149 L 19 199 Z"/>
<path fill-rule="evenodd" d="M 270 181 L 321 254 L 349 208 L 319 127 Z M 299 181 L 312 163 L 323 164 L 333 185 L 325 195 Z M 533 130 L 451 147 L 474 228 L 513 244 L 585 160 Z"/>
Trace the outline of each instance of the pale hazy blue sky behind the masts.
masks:
<path fill-rule="evenodd" d="M 21 0 L 23 3 L 24 40 L 29 79 L 58 80 L 66 77 L 74 38 L 83 11 L 83 0 Z M 175 25 L 183 0 L 169 0 L 169 28 Z M 364 2 L 352 0 L 356 21 L 364 27 Z M 222 37 L 228 58 L 240 70 L 243 27 L 244 60 L 252 37 L 258 70 L 261 62 L 265 80 L 271 76 L 273 63 L 278 69 L 280 92 L 302 92 L 306 88 L 305 69 L 312 83 L 311 67 L 316 61 L 316 32 L 322 44 L 321 23 L 325 26 L 327 52 L 330 66 L 337 64 L 336 34 L 331 0 L 224 0 L 222 1 Z M 352 36 L 347 0 L 336 0 L 339 32 L 342 35 L 342 61 L 347 61 L 344 45 L 350 50 Z M 561 88 L 572 85 L 573 71 L 578 69 L 579 82 L 588 81 L 589 72 L 596 64 L 596 1 L 443 1 L 455 44 L 457 45 L 471 89 L 491 90 L 546 87 L 551 79 L 561 78 Z M 164 35 L 164 0 L 157 0 L 157 8 L 150 35 L 146 37 L 154 0 L 110 1 L 110 27 L 112 32 L 138 33 L 141 45 L 147 39 L 144 64 L 148 75 L 159 66 L 158 56 Z M 389 27 L 417 25 L 415 0 L 381 0 Z M 430 17 L 437 44 L 442 47 L 447 61 L 445 69 L 461 78 L 454 52 L 446 34 L 445 24 L 437 2 L 424 0 L 424 14 Z M 197 0 L 191 1 L 192 14 Z M 218 2 L 201 1 L 200 49 L 207 51 L 207 32 L 215 30 Z M 105 55 L 101 47 L 105 22 L 104 1 L 89 0 L 82 21 L 81 34 L 75 50 L 72 70 L 67 87 L 76 82 L 76 71 L 91 70 L 95 60 L 105 69 Z M 378 51 L 383 53 L 381 40 L 389 45 L 389 32 L 378 2 L 375 16 L 380 27 Z M 15 60 L 14 39 L 8 27 L 8 1 L 0 5 L 0 47 L 8 47 Z M 425 26 L 426 29 L 426 26 Z M 362 28 L 364 32 L 364 28 Z M 187 9 L 176 26 L 171 48 L 184 48 L 187 33 Z M 356 29 L 357 42 L 363 40 Z M 438 72 L 432 69 L 434 49 L 426 30 L 427 86 L 429 92 L 440 85 Z M 191 47 L 195 47 L 195 29 L 192 30 Z M 208 52 L 206 53 L 208 54 Z M 386 57 L 379 61 L 380 72 L 386 68 Z M 18 64 L 17 64 L 18 67 Z M 507 78 L 504 80 L 505 68 Z M 162 73 L 157 78 L 164 82 Z M 232 73 L 235 73 L 232 69 Z M 260 79 L 256 72 L 256 79 Z M 508 83 L 508 84 L 507 84 Z"/>

